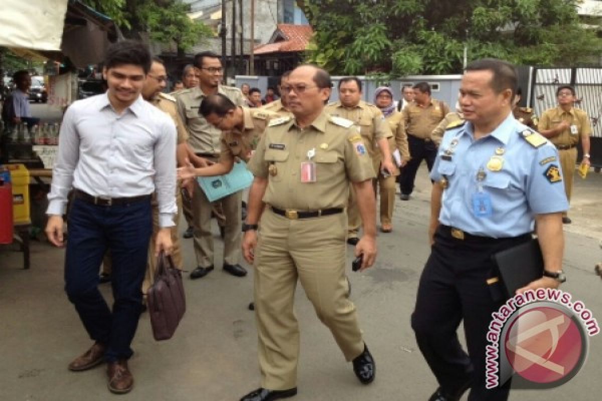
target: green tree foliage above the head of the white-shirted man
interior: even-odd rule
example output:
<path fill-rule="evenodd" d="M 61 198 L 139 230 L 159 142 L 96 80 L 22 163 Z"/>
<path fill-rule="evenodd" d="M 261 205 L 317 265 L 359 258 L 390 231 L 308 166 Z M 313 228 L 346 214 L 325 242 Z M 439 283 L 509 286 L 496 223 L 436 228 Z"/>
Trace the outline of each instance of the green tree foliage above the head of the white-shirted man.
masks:
<path fill-rule="evenodd" d="M 187 16 L 190 5 L 179 0 L 84 0 L 84 3 L 113 18 L 128 37 L 146 32 L 159 43 L 174 41 L 182 51 L 213 35 L 211 28 Z"/>

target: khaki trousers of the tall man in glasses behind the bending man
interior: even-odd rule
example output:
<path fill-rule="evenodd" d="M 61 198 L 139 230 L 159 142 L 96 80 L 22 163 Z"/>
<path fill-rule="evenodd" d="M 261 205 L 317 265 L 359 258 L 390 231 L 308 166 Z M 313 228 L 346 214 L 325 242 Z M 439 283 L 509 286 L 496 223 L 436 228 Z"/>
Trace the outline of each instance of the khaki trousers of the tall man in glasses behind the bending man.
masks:
<path fill-rule="evenodd" d="M 196 180 L 195 180 L 196 181 Z M 226 218 L 224 224 L 224 263 L 236 265 L 240 263 L 241 247 L 241 207 L 242 194 L 236 192 L 220 199 L 223 214 Z M 207 200 L 205 192 L 199 183 L 194 183 L 194 196 L 192 198 L 193 227 L 194 227 L 194 253 L 197 266 L 208 268 L 213 265 L 213 233 L 211 233 L 212 204 Z"/>

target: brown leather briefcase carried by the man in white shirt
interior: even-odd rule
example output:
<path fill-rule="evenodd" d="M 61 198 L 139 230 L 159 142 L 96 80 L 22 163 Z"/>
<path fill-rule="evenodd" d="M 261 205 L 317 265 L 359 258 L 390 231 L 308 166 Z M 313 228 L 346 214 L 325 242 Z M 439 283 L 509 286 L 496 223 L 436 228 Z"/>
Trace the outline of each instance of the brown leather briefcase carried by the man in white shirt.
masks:
<path fill-rule="evenodd" d="M 148 290 L 146 302 L 155 340 L 169 340 L 184 316 L 186 300 L 182 273 L 171 256 L 159 255 L 155 283 Z"/>

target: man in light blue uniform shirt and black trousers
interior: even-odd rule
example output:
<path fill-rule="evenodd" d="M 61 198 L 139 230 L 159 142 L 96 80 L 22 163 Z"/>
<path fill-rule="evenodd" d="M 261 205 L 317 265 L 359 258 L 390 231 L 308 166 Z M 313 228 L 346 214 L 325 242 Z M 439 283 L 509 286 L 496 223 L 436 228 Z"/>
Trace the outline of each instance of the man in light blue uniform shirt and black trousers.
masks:
<path fill-rule="evenodd" d="M 439 382 L 429 401 L 506 400 L 509 382 L 485 389 L 486 332 L 491 313 L 506 301 L 491 256 L 536 234 L 544 277 L 520 289 L 559 286 L 568 209 L 556 148 L 515 120 L 514 67 L 485 59 L 462 78 L 467 122 L 445 132 L 430 177 L 432 252 L 420 278 L 414 314 L 418 346 Z M 468 355 L 456 330 L 464 320 Z"/>

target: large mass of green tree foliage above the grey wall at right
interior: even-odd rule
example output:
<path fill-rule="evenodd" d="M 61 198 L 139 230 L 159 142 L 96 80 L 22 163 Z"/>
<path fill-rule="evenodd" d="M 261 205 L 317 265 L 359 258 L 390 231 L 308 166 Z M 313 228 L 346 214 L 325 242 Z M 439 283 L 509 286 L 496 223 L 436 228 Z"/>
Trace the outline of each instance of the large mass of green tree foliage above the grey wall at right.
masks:
<path fill-rule="evenodd" d="M 578 0 L 299 0 L 315 34 L 308 61 L 333 73 L 458 73 L 468 60 L 574 66 L 602 51 Z"/>

